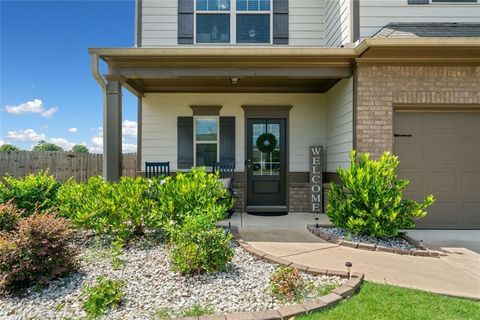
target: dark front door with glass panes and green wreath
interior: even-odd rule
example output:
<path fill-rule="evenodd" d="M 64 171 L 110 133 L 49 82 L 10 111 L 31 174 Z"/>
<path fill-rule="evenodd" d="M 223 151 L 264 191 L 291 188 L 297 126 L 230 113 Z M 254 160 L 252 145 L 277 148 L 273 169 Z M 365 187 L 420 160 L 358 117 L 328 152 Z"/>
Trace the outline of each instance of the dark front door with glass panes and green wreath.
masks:
<path fill-rule="evenodd" d="M 286 212 L 286 119 L 247 119 L 247 212 Z"/>

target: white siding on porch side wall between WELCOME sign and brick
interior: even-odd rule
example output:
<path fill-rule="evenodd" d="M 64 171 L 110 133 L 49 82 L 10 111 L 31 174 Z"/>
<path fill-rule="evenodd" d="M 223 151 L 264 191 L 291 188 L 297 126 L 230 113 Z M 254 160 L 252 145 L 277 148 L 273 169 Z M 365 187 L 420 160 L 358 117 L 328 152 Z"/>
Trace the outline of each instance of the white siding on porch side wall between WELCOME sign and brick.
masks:
<path fill-rule="evenodd" d="M 353 149 L 353 79 L 343 79 L 326 94 L 327 172 L 349 166 Z"/>

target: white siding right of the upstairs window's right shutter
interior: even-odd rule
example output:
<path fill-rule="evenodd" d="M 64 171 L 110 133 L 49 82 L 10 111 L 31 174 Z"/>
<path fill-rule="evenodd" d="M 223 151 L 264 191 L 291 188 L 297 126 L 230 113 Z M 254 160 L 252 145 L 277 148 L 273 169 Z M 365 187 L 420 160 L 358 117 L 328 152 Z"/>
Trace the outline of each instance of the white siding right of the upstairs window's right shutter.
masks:
<path fill-rule="evenodd" d="M 289 45 L 325 46 L 325 1 L 288 2 Z"/>

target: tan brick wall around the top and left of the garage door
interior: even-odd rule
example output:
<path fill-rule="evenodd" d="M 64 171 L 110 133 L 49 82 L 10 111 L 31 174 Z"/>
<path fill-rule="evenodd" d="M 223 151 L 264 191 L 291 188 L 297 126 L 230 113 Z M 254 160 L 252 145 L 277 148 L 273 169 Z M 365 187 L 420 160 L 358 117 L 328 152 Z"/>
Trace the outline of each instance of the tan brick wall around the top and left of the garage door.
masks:
<path fill-rule="evenodd" d="M 356 149 L 378 157 L 393 149 L 394 104 L 479 104 L 478 66 L 358 65 Z"/>

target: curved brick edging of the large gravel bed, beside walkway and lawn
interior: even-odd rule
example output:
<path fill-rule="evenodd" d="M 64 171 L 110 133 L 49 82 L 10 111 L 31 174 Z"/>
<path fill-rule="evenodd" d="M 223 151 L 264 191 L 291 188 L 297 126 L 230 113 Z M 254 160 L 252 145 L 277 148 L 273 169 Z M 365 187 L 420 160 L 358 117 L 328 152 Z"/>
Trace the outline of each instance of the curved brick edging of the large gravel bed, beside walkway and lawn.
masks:
<path fill-rule="evenodd" d="M 273 255 L 267 254 L 261 250 L 258 250 L 252 247 L 249 243 L 242 240 L 238 234 L 238 229 L 235 227 L 230 228 L 230 232 L 233 234 L 234 239 L 237 243 L 251 255 L 263 259 L 275 264 L 280 264 L 284 266 L 290 266 L 292 268 L 299 269 L 303 272 L 310 273 L 313 275 L 327 275 L 327 276 L 338 276 L 341 278 L 348 278 L 348 273 L 344 271 L 336 270 L 324 270 L 318 268 L 311 268 L 305 265 L 297 264 L 290 262 L 288 260 L 275 257 Z M 275 310 L 265 310 L 257 312 L 235 312 L 224 315 L 207 315 L 200 317 L 187 317 L 179 318 L 182 320 L 282 320 L 282 319 L 291 319 L 296 316 L 307 314 L 310 312 L 317 312 L 324 310 L 326 308 L 331 308 L 336 306 L 343 299 L 347 299 L 353 294 L 355 294 L 364 279 L 363 273 L 353 272 L 350 274 L 350 278 L 340 287 L 332 290 L 331 293 L 324 295 L 316 300 L 307 301 L 299 304 L 294 304 L 290 306 L 283 306 Z"/>

